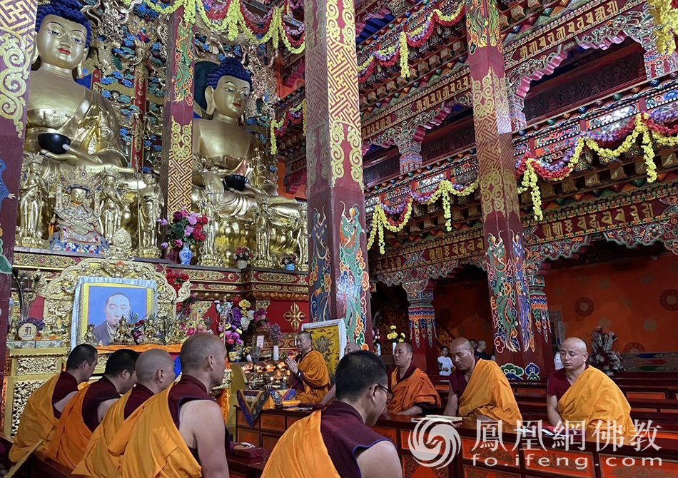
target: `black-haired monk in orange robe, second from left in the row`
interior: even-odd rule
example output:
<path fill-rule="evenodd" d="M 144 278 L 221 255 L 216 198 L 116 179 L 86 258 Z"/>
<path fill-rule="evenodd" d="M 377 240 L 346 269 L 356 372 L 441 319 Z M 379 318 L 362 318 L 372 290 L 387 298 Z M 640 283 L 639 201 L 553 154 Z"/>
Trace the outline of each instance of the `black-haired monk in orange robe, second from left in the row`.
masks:
<path fill-rule="evenodd" d="M 81 462 L 92 433 L 108 408 L 136 383 L 138 353 L 116 350 L 108 357 L 103 377 L 80 390 L 66 405 L 47 450 L 47 457 L 74 469 Z"/>

